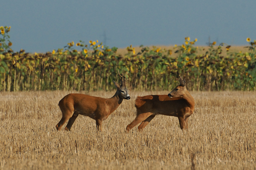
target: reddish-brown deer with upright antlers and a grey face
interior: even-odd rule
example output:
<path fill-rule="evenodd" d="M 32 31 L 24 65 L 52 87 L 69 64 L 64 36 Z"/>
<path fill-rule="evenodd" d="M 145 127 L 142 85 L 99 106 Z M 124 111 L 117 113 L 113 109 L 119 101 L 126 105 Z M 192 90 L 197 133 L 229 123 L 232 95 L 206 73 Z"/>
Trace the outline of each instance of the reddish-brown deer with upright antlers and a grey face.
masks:
<path fill-rule="evenodd" d="M 69 120 L 65 130 L 70 131 L 77 116 L 81 114 L 96 120 L 96 128 L 101 131 L 102 121 L 106 120 L 117 109 L 123 99 L 129 100 L 131 98 L 126 88 L 126 76 L 123 75 L 123 72 L 120 75 L 119 71 L 118 75 L 121 77 L 121 84 L 119 85 L 113 80 L 117 90 L 115 95 L 109 99 L 85 94 L 68 94 L 63 97 L 59 101 L 62 118 L 56 125 L 57 130 L 59 131 L 63 124 Z"/>

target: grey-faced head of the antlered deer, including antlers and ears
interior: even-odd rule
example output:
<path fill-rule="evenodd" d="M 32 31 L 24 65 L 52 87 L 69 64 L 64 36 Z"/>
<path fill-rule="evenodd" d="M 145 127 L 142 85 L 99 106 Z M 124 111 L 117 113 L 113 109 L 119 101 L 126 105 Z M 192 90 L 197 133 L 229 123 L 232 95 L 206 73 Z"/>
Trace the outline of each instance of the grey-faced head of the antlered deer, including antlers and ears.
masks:
<path fill-rule="evenodd" d="M 118 70 L 118 75 L 121 78 L 121 84 L 118 84 L 117 82 L 115 82 L 113 80 L 113 82 L 115 84 L 115 87 L 117 88 L 116 92 L 118 94 L 118 97 L 120 97 L 121 99 L 129 100 L 129 99 L 131 99 L 131 97 L 128 94 L 129 90 L 126 88 L 126 78 L 125 78 L 126 77 L 126 73 L 125 73 L 125 75 L 123 75 L 123 72 L 122 72 L 122 75 L 120 75 L 119 70 Z"/>

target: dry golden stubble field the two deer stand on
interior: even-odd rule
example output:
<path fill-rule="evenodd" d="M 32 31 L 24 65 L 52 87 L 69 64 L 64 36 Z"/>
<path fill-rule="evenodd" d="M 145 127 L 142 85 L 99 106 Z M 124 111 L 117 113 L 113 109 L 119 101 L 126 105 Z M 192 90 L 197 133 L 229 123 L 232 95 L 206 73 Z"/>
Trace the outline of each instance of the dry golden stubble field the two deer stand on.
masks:
<path fill-rule="evenodd" d="M 126 126 L 135 118 L 137 95 L 129 92 L 96 131 L 81 116 L 70 132 L 56 131 L 59 100 L 71 92 L 0 93 L 0 169 L 255 169 L 256 92 L 190 92 L 195 113 L 189 130 L 176 117 L 156 116 L 138 132 Z M 112 97 L 115 92 L 81 92 Z M 192 162 L 195 166 L 192 166 Z"/>

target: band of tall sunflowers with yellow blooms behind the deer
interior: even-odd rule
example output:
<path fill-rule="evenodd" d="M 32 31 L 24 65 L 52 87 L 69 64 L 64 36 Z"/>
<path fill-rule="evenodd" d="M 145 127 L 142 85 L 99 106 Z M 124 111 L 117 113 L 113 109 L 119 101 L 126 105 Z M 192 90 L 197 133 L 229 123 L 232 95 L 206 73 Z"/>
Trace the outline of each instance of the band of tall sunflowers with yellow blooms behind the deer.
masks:
<path fill-rule="evenodd" d="M 256 42 L 250 38 L 245 53 L 229 52 L 229 45 L 212 42 L 199 55 L 197 39 L 186 37 L 184 44 L 172 49 L 140 46 L 136 52 L 129 46 L 123 56 L 116 47 L 98 41 L 69 42 L 52 52 L 29 54 L 11 49 L 10 28 L 0 27 L 0 91 L 112 90 L 112 80 L 119 82 L 118 70 L 126 73 L 132 90 L 171 90 L 179 76 L 188 78 L 189 90 L 256 89 Z"/>

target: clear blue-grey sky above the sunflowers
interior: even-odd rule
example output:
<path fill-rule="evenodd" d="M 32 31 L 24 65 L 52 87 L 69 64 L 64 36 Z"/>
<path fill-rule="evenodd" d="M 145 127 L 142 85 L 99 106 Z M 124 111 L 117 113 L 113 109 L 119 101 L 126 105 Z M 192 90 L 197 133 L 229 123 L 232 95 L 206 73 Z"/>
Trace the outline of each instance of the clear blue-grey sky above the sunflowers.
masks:
<path fill-rule="evenodd" d="M 11 26 L 14 51 L 47 52 L 89 40 L 124 48 L 211 41 L 245 45 L 256 39 L 255 0 L 7 0 L 0 26 Z M 105 36 L 104 36 L 105 35 Z"/>

